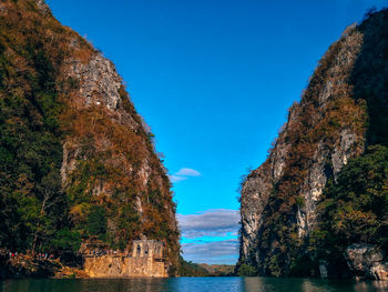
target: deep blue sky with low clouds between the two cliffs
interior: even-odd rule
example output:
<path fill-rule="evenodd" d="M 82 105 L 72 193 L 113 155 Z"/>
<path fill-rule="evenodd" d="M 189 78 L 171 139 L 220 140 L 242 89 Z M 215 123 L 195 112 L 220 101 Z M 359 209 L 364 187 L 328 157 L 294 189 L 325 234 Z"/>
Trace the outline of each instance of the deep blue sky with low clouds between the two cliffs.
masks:
<path fill-rule="evenodd" d="M 47 0 L 111 59 L 174 181 L 184 258 L 237 259 L 239 178 L 318 60 L 382 0 Z M 210 218 L 212 220 L 210 220 Z"/>

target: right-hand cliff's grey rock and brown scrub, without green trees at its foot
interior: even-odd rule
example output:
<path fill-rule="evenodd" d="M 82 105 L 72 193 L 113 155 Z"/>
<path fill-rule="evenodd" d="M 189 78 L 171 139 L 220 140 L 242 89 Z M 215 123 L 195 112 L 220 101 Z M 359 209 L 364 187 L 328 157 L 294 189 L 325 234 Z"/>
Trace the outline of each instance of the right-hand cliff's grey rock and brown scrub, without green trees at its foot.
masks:
<path fill-rule="evenodd" d="M 299 274 L 300 262 L 310 261 L 303 256 L 319 223 L 317 203 L 327 182 L 372 143 L 379 120 L 371 118 L 374 108 L 384 104 L 380 110 L 387 111 L 381 88 L 377 98 L 366 97 L 372 83 L 387 80 L 386 69 L 378 72 L 379 81 L 369 78 L 366 64 L 377 58 L 375 63 L 386 68 L 386 27 L 387 11 L 371 14 L 330 46 L 300 102 L 289 109 L 267 160 L 247 175 L 241 194 L 239 265 L 287 275 Z M 386 137 L 380 133 L 379 142 Z"/>

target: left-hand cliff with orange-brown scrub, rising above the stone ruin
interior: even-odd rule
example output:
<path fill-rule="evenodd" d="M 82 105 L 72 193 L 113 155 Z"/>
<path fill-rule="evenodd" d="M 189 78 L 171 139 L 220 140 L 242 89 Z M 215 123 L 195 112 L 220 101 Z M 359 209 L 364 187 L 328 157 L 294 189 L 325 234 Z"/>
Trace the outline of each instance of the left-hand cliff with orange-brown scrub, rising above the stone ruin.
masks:
<path fill-rule="evenodd" d="M 0 18 L 1 245 L 124 250 L 152 239 L 177 264 L 171 183 L 113 63 L 44 1 L 2 1 Z"/>

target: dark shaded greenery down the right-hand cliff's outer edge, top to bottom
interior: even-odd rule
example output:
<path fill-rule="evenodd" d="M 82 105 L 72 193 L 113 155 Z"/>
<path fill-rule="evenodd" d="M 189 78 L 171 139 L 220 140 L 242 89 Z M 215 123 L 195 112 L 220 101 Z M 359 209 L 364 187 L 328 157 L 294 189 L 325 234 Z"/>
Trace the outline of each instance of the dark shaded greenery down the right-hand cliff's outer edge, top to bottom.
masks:
<path fill-rule="evenodd" d="M 366 151 L 329 180 L 309 241 L 309 258 L 325 259 L 339 275 L 351 243 L 388 250 L 388 10 L 369 11 L 358 30 L 364 43 L 349 82 L 353 98 L 367 104 Z"/>

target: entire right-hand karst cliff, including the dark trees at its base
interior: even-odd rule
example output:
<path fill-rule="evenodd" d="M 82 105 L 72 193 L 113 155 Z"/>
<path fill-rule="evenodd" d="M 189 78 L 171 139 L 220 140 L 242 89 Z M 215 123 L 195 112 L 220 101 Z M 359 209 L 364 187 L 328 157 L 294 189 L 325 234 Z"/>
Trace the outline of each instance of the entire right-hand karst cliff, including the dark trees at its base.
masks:
<path fill-rule="evenodd" d="M 368 189 L 375 194 L 361 193 L 350 179 L 346 184 L 353 189 L 339 192 L 338 183 L 359 165 L 365 175 L 386 175 L 384 167 L 372 172 L 365 161 L 384 158 L 384 150 L 374 145 L 388 145 L 387 52 L 385 9 L 348 27 L 321 58 L 300 102 L 290 107 L 269 157 L 242 185 L 237 270 L 251 266 L 253 274 L 279 276 L 318 274 L 320 268 L 323 274 L 381 278 L 370 272 L 376 268 L 371 263 L 351 271 L 354 265 L 346 263 L 351 256 L 345 254 L 351 244 L 386 249 L 388 202 L 381 198 L 387 181 Z M 372 174 L 366 175 L 365 183 L 371 180 Z M 370 205 L 364 205 L 361 198 Z M 364 226 L 359 233 L 357 225 Z M 365 234 L 370 235 L 369 242 Z M 375 270 L 388 271 L 381 266 Z"/>

